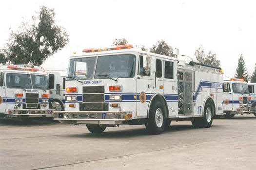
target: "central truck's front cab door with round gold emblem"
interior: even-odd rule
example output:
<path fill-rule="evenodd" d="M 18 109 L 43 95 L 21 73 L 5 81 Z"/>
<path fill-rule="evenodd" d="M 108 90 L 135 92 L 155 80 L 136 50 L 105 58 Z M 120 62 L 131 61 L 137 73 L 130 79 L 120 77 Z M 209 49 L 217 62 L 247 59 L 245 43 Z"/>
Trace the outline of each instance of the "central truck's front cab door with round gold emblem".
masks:
<path fill-rule="evenodd" d="M 155 73 L 151 68 L 153 59 L 151 56 L 144 54 L 139 55 L 138 58 L 138 74 L 136 79 L 136 117 L 147 118 L 148 105 L 153 95 L 155 83 Z"/>

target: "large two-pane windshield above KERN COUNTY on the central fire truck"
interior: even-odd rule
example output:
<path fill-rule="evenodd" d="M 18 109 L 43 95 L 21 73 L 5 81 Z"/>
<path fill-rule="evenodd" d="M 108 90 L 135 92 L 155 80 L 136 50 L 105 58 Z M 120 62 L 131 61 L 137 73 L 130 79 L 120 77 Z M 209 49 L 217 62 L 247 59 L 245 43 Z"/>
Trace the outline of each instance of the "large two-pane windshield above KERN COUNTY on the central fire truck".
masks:
<path fill-rule="evenodd" d="M 67 80 L 133 77 L 135 60 L 131 54 L 99 56 L 95 69 L 96 57 L 71 59 Z"/>

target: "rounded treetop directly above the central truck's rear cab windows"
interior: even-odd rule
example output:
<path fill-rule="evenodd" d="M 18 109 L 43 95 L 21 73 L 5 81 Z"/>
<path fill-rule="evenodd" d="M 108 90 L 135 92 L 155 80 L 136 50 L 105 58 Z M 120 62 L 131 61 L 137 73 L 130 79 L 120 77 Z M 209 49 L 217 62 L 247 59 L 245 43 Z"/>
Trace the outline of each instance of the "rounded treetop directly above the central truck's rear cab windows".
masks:
<path fill-rule="evenodd" d="M 150 52 L 173 57 L 173 48 L 164 40 L 160 40 L 150 48 Z"/>

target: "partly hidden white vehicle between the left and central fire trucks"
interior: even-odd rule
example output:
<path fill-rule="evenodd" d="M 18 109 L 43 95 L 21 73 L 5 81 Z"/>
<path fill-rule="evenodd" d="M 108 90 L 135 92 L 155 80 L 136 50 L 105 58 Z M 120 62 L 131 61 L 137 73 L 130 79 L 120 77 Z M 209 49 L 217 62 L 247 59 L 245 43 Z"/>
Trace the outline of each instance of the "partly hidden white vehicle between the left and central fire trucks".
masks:
<path fill-rule="evenodd" d="M 65 110 L 66 70 L 46 70 L 50 89 L 50 107 L 54 110 Z"/>

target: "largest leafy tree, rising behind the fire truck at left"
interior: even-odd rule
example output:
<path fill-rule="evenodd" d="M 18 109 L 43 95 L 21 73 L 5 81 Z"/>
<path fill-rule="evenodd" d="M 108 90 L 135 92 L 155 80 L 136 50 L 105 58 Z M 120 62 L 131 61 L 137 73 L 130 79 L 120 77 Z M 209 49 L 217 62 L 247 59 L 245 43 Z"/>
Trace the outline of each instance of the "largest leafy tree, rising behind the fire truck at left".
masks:
<path fill-rule="evenodd" d="M 49 56 L 68 43 L 66 31 L 55 24 L 55 12 L 40 7 L 38 16 L 22 22 L 19 31 L 10 34 L 7 43 L 8 60 L 16 64 L 41 65 Z"/>

